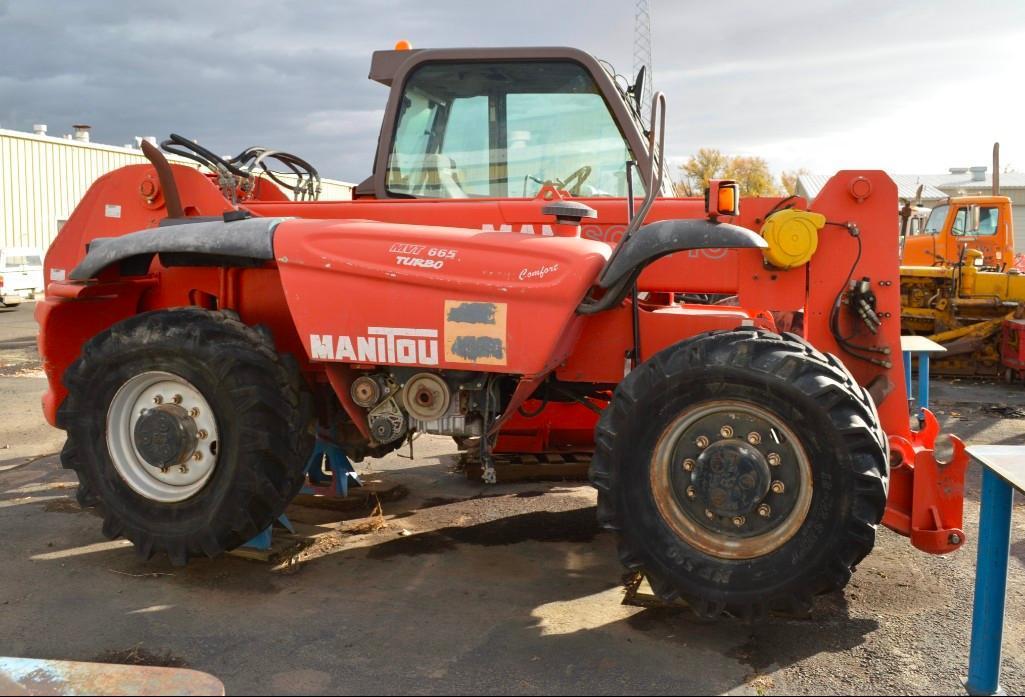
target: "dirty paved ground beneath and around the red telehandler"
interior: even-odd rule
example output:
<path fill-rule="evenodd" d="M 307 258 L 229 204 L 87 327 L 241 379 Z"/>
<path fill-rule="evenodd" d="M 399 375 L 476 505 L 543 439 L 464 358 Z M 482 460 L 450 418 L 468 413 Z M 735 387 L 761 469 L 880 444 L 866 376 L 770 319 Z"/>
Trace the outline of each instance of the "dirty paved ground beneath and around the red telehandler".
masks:
<path fill-rule="evenodd" d="M 360 469 L 408 489 L 383 515 L 293 506 L 305 546 L 274 562 L 140 562 L 74 502 L 39 409 L 32 305 L 0 313 L 0 655 L 188 666 L 230 694 L 958 694 L 969 542 L 944 558 L 880 530 L 807 619 L 701 622 L 623 605 L 583 484 L 487 487 L 449 439 Z M 934 382 L 947 428 L 1025 444 L 1025 387 Z M 1025 506 L 1016 501 L 1002 684 L 1025 693 Z M 280 539 L 280 536 L 279 536 Z"/>

